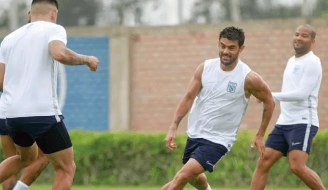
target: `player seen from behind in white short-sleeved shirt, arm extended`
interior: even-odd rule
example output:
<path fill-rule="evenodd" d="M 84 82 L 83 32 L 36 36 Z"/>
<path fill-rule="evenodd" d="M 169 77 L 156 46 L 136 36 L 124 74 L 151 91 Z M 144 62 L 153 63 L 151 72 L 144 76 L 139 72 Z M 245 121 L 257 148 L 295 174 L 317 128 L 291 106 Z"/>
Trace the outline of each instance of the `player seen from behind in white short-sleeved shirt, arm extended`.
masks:
<path fill-rule="evenodd" d="M 33 0 L 31 23 L 7 35 L 0 46 L 0 62 L 6 67 L 3 94 L 10 97 L 7 128 L 19 152 L 0 164 L 0 182 L 32 164 L 38 146 L 56 172 L 52 188 L 72 186 L 76 166 L 56 94 L 58 62 L 96 71 L 99 61 L 67 49 L 66 31 L 55 24 L 57 14 L 56 0 Z"/>

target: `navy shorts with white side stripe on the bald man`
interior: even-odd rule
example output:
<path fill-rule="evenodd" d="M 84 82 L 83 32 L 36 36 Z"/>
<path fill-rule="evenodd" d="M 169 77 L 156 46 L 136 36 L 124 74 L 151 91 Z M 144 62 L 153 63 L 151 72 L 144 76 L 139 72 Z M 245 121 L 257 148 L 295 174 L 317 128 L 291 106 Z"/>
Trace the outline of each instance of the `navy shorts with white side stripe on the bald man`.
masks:
<path fill-rule="evenodd" d="M 310 124 L 275 125 L 265 146 L 287 156 L 292 150 L 300 150 L 310 154 L 312 139 L 318 127 Z"/>

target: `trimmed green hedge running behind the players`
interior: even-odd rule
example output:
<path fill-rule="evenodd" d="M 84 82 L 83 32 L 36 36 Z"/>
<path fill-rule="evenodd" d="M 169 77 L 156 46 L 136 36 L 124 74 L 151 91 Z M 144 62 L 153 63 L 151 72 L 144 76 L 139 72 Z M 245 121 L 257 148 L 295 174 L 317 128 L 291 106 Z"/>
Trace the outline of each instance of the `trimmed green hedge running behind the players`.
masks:
<path fill-rule="evenodd" d="M 177 137 L 178 149 L 167 150 L 166 134 L 70 132 L 76 163 L 74 184 L 163 185 L 181 168 L 186 135 Z M 241 131 L 232 151 L 207 175 L 212 186 L 250 186 L 258 159 L 250 144 L 254 132 Z M 308 166 L 328 185 L 328 132 L 321 131 L 312 144 Z M 4 158 L 1 150 L 0 155 Z M 54 171 L 49 165 L 36 180 L 52 183 Z M 268 183 L 274 186 L 303 186 L 294 176 L 288 160 L 282 158 L 271 172 Z"/>

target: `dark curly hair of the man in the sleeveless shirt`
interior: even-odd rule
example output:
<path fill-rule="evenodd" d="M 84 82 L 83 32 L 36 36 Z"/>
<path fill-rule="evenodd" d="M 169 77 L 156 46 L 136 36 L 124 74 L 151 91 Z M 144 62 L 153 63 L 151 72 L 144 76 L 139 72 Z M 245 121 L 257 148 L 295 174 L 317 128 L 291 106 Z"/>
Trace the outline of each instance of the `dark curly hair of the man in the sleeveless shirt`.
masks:
<path fill-rule="evenodd" d="M 227 38 L 231 41 L 238 41 L 238 45 L 241 47 L 244 45 L 245 33 L 241 28 L 236 28 L 234 26 L 227 27 L 220 32 L 219 40 L 221 40 L 221 38 Z"/>

